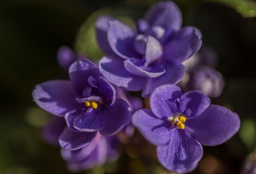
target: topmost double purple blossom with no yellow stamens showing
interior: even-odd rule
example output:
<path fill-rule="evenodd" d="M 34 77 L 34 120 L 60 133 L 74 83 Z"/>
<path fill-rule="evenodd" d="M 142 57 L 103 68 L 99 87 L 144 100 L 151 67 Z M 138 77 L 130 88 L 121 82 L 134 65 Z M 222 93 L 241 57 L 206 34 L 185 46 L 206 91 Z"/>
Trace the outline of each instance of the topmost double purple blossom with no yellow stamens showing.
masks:
<path fill-rule="evenodd" d="M 97 41 L 107 54 L 100 71 L 112 84 L 142 90 L 143 97 L 163 84 L 176 84 L 184 75 L 184 60 L 201 47 L 195 27 L 181 28 L 182 17 L 174 2 L 156 3 L 137 21 L 137 31 L 110 16 L 96 21 Z"/>

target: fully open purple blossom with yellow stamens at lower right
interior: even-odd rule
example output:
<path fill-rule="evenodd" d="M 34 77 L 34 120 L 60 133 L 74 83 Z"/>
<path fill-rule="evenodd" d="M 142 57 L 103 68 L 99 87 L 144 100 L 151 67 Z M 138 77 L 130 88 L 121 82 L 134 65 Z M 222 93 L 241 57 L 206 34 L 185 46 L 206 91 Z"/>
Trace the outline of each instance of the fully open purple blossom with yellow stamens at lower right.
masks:
<path fill-rule="evenodd" d="M 134 113 L 132 123 L 157 146 L 160 163 L 170 171 L 196 168 L 205 146 L 231 138 L 240 127 L 236 113 L 217 105 L 197 90 L 185 94 L 175 85 L 162 85 L 150 97 L 150 109 Z"/>

